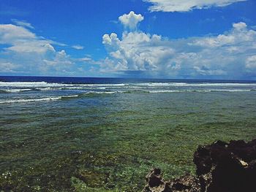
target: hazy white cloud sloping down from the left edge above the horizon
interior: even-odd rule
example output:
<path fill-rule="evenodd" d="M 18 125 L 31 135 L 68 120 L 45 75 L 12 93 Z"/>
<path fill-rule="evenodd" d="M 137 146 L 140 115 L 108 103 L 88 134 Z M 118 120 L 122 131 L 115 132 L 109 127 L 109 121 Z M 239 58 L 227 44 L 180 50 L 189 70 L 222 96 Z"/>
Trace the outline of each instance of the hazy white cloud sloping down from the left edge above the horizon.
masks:
<path fill-rule="evenodd" d="M 0 24 L 0 72 L 22 74 L 72 74 L 74 62 L 63 45 L 38 37 L 24 26 Z"/>

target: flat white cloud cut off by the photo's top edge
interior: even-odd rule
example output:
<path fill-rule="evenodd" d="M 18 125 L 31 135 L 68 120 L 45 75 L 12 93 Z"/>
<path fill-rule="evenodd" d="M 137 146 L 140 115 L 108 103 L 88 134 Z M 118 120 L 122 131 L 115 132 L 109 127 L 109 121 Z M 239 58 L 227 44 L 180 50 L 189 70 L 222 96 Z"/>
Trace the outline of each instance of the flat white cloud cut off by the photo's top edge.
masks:
<path fill-rule="evenodd" d="M 151 12 L 188 12 L 192 9 L 208 9 L 210 7 L 225 7 L 246 0 L 143 0 L 153 4 L 148 9 Z"/>

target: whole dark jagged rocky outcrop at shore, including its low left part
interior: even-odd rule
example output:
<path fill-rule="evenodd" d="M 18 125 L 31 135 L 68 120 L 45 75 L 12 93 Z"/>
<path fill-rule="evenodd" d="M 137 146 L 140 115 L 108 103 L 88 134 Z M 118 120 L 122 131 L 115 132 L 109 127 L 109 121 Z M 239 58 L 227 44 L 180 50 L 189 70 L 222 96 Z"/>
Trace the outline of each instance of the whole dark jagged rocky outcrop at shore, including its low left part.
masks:
<path fill-rule="evenodd" d="M 147 176 L 144 192 L 250 192 L 256 191 L 256 139 L 199 146 L 194 154 L 196 176 L 165 182 L 160 169 Z"/>

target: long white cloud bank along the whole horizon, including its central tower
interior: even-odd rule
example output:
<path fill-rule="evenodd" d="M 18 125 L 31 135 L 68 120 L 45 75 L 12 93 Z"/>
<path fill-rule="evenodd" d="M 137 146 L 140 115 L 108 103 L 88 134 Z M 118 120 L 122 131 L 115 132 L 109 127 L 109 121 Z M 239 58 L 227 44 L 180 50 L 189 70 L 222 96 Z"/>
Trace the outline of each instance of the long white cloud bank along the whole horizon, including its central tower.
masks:
<path fill-rule="evenodd" d="M 201 79 L 255 79 L 256 31 L 244 22 L 230 23 L 218 35 L 168 39 L 138 29 L 143 15 L 119 17 L 121 37 L 104 34 L 107 56 L 72 58 L 68 46 L 40 37 L 29 25 L 0 24 L 0 73 L 69 76 L 123 76 Z"/>

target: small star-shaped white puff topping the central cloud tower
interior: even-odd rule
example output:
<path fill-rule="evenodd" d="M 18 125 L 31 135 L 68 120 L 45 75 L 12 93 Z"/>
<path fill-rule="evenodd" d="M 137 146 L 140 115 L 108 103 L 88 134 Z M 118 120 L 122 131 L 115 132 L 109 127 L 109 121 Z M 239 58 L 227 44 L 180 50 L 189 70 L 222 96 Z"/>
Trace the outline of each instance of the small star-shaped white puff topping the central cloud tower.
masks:
<path fill-rule="evenodd" d="M 137 28 L 138 23 L 142 21 L 144 18 L 140 14 L 135 14 L 135 12 L 131 11 L 129 14 L 121 15 L 118 20 L 127 28 L 133 30 Z"/>

